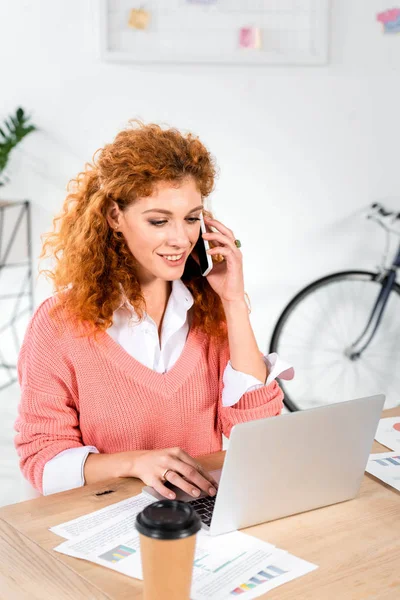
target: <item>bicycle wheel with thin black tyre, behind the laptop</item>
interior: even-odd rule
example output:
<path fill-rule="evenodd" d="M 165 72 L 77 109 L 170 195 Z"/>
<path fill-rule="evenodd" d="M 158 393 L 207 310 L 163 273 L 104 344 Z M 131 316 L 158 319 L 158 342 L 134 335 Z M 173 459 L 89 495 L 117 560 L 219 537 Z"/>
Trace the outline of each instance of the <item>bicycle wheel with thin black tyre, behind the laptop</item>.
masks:
<path fill-rule="evenodd" d="M 280 382 L 284 403 L 301 410 L 383 392 L 385 408 L 400 401 L 400 286 L 392 290 L 380 326 L 358 360 L 345 354 L 362 333 L 378 297 L 378 273 L 344 271 L 301 290 L 284 309 L 270 352 L 295 369 Z"/>

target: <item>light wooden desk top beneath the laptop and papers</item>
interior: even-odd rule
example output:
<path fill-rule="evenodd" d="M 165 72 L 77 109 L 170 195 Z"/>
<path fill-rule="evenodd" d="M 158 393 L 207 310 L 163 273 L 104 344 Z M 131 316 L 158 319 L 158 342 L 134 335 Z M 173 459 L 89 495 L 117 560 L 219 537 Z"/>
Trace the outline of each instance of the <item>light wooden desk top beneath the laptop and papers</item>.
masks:
<path fill-rule="evenodd" d="M 400 416 L 400 408 L 383 416 Z M 385 451 L 374 442 L 372 452 Z M 200 462 L 216 469 L 223 457 L 217 452 Z M 113 479 L 0 509 L 0 600 L 141 598 L 141 581 L 54 552 L 63 540 L 48 527 L 129 498 L 142 486 L 137 479 Z M 106 490 L 113 492 L 98 495 Z M 371 475 L 354 500 L 244 531 L 319 566 L 263 598 L 400 598 L 400 492 Z"/>

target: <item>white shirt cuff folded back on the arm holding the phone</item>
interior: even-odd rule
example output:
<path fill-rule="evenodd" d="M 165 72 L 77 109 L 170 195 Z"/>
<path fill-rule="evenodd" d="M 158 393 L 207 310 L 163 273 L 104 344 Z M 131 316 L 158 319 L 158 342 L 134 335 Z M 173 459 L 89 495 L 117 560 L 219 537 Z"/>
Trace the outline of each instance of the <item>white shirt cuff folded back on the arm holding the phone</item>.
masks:
<path fill-rule="evenodd" d="M 253 377 L 253 375 L 237 371 L 232 367 L 231 361 L 228 362 L 223 375 L 222 406 L 233 406 L 246 392 L 252 392 L 269 385 L 277 377 L 286 380 L 293 379 L 293 367 L 279 358 L 276 352 L 263 356 L 263 360 L 269 371 L 265 383 Z"/>

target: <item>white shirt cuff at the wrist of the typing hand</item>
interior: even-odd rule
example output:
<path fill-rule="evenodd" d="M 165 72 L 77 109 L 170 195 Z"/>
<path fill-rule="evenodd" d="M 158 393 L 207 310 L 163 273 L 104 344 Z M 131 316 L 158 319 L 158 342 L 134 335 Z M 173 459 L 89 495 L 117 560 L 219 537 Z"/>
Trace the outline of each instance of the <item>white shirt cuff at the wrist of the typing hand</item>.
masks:
<path fill-rule="evenodd" d="M 49 460 L 43 470 L 43 495 L 57 494 L 85 485 L 84 465 L 91 452 L 100 454 L 95 446 L 68 448 Z"/>

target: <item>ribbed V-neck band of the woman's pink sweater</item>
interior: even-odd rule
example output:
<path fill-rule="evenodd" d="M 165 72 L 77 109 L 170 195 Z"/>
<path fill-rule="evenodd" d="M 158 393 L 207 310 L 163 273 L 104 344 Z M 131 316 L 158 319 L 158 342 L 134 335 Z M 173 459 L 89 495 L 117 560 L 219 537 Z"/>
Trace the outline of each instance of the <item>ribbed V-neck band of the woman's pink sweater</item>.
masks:
<path fill-rule="evenodd" d="M 203 338 L 203 339 L 202 339 Z M 124 373 L 145 385 L 165 390 L 167 386 L 171 391 L 179 388 L 183 381 L 193 371 L 205 341 L 205 336 L 190 327 L 185 346 L 175 364 L 164 373 L 158 373 L 150 367 L 143 365 L 116 342 L 106 331 L 99 336 L 99 345 L 108 358 Z"/>

